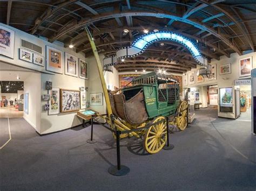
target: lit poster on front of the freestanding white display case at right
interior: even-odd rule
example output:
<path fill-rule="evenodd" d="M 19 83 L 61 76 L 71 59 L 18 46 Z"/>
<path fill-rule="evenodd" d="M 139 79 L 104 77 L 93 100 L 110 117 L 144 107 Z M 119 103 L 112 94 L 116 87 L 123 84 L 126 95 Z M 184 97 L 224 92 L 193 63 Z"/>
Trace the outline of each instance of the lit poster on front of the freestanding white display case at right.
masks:
<path fill-rule="evenodd" d="M 220 112 L 233 112 L 233 88 L 220 88 Z"/>

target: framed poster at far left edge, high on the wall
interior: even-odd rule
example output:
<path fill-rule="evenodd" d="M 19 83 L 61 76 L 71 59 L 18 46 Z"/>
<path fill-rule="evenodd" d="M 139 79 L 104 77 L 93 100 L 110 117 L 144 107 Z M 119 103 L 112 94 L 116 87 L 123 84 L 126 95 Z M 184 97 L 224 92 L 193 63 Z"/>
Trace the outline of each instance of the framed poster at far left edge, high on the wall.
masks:
<path fill-rule="evenodd" d="M 0 26 L 0 54 L 14 59 L 15 32 Z"/>

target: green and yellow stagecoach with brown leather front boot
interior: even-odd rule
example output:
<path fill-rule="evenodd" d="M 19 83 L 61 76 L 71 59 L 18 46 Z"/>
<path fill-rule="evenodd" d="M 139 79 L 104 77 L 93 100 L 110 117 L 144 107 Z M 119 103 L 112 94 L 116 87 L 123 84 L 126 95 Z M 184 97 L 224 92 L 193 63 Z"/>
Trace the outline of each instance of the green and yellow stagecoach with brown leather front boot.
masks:
<path fill-rule="evenodd" d="M 102 117 L 124 132 L 120 138 L 144 138 L 145 150 L 157 153 L 167 141 L 166 123 L 177 125 L 180 130 L 186 128 L 187 102 L 180 101 L 179 83 L 171 76 L 151 72 L 137 77 L 131 84 L 121 94 L 109 95 L 112 119 Z"/>

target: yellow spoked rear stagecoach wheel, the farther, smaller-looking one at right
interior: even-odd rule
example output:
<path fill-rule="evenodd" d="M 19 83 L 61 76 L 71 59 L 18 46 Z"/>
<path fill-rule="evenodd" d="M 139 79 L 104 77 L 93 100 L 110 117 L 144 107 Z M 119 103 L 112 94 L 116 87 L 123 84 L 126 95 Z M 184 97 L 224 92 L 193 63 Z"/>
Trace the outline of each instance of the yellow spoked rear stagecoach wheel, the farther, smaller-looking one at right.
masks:
<path fill-rule="evenodd" d="M 177 127 L 183 131 L 187 127 L 187 102 L 182 101 L 177 110 L 178 116 L 176 117 Z M 182 112 L 181 112 L 182 111 Z"/>

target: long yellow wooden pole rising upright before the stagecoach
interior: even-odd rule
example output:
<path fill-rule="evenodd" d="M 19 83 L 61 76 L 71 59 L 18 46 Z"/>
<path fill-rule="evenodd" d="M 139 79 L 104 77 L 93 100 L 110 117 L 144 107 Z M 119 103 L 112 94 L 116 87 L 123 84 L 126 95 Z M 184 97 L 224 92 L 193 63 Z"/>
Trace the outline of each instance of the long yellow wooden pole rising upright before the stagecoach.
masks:
<path fill-rule="evenodd" d="M 103 93 L 104 93 L 104 97 L 105 97 L 105 101 L 106 101 L 107 114 L 109 115 L 109 119 L 111 121 L 110 115 L 112 114 L 112 109 L 111 109 L 111 105 L 110 105 L 109 93 L 107 93 L 107 88 L 106 88 L 106 82 L 105 82 L 105 79 L 104 79 L 102 63 L 100 62 L 99 54 L 98 54 L 97 48 L 95 46 L 95 43 L 92 40 L 89 29 L 86 27 L 85 30 L 87 32 L 87 36 L 88 36 L 88 39 L 90 41 L 93 54 L 94 54 L 96 62 L 97 62 L 99 77 L 100 77 L 100 81 L 102 82 Z"/>

